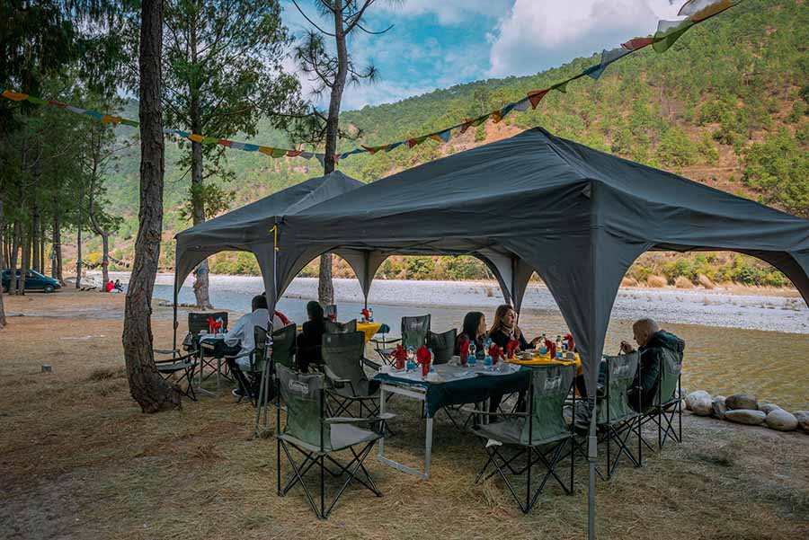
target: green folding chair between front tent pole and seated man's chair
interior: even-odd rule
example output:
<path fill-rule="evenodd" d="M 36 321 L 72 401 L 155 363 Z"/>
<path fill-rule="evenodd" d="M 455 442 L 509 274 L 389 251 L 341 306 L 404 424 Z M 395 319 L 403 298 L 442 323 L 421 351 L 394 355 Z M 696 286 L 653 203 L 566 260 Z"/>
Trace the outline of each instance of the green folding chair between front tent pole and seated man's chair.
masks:
<path fill-rule="evenodd" d="M 607 370 L 604 388 L 597 400 L 596 426 L 600 430 L 600 443 L 607 443 L 607 478 L 618 467 L 621 456 L 627 456 L 636 467 L 640 462 L 632 454 L 627 441 L 636 433 L 640 415 L 629 404 L 629 394 L 635 385 L 640 363 L 637 351 L 619 356 L 605 356 Z M 573 417 L 575 418 L 575 416 Z M 612 459 L 612 443 L 618 445 L 618 456 Z M 638 446 L 640 443 L 638 443 Z"/>

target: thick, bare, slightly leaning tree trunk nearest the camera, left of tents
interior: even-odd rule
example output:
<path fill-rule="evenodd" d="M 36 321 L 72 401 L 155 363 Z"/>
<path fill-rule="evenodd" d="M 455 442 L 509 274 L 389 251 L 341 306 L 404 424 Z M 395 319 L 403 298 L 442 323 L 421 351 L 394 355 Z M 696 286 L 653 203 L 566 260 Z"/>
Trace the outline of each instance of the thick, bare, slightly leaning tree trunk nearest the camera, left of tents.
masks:
<path fill-rule="evenodd" d="M 143 0 L 140 22 L 140 211 L 122 341 L 129 393 L 143 412 L 160 412 L 180 406 L 180 395 L 157 373 L 150 318 L 163 230 L 163 0 Z"/>

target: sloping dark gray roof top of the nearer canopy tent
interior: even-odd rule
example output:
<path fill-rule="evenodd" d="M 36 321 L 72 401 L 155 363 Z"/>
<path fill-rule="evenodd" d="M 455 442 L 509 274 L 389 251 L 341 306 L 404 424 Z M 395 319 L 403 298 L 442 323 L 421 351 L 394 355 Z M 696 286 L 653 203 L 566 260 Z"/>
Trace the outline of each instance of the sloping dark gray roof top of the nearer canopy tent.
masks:
<path fill-rule="evenodd" d="M 605 195 L 600 208 L 578 208 L 581 196 L 589 199 L 592 190 Z M 552 206 L 560 204 L 568 211 Z M 610 234 L 651 243 L 652 248 L 809 252 L 809 222 L 804 219 L 555 137 L 542 128 L 394 174 L 287 221 L 297 228 L 311 224 L 296 232 L 298 238 L 306 231 L 324 233 L 307 236 L 313 241 L 360 247 L 363 239 L 368 243 L 387 237 L 395 250 L 435 237 L 433 247 L 458 243 L 463 251 L 468 245 L 461 244 L 469 242 L 460 240 L 477 234 L 491 241 L 497 235 L 588 228 L 594 225 L 594 209 L 599 210 L 599 225 Z M 586 215 L 579 214 L 581 210 Z M 424 220 L 418 230 L 410 218 Z M 326 226 L 334 221 L 361 226 Z M 524 230 L 523 221 L 530 230 Z M 386 223 L 408 227 L 395 239 L 386 234 L 390 229 L 379 228 Z M 722 225 L 719 230 L 716 224 Z M 748 235 L 744 245 L 738 242 L 740 229 Z"/>

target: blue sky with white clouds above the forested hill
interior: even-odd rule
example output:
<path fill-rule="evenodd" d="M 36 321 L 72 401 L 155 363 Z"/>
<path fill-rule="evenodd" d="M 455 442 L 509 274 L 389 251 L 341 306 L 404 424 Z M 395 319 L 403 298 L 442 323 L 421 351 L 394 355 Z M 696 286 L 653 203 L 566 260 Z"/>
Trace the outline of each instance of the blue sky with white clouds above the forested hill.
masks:
<path fill-rule="evenodd" d="M 373 62 L 375 84 L 349 88 L 343 110 L 396 102 L 436 88 L 489 77 L 529 75 L 623 40 L 653 33 L 676 19 L 684 0 L 378 0 L 350 51 L 358 65 Z M 296 35 L 310 27 L 288 0 L 284 22 Z M 312 0 L 298 5 L 317 22 Z M 288 68 L 294 69 L 289 60 Z M 302 75 L 301 75 L 302 76 Z M 303 80 L 304 87 L 310 87 Z"/>

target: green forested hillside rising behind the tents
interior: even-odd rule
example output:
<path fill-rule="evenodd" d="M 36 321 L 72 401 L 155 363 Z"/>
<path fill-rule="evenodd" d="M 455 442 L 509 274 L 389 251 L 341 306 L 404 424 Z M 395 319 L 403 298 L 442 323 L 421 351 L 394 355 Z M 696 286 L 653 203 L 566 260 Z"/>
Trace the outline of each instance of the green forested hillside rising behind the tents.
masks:
<path fill-rule="evenodd" d="M 551 93 L 536 111 L 488 122 L 448 145 L 428 141 L 413 150 L 357 155 L 339 168 L 362 181 L 435 159 L 447 153 L 542 126 L 561 137 L 681 173 L 696 181 L 760 199 L 809 217 L 809 3 L 803 0 L 745 0 L 687 32 L 667 52 L 651 48 L 609 67 L 599 81 L 585 77 L 567 93 Z M 360 129 L 360 140 L 341 150 L 378 145 L 437 128 L 547 87 L 598 60 L 577 58 L 537 75 L 490 79 L 437 90 L 402 102 L 342 114 L 344 126 Z M 130 118 L 137 107 L 130 103 Z M 177 128 L 182 128 L 178 126 Z M 215 135 L 215 134 L 210 134 Z M 121 137 L 137 137 L 120 128 Z M 288 145 L 285 134 L 264 123 L 255 141 Z M 175 165 L 180 149 L 166 155 L 165 228 L 187 226 L 178 208 L 188 178 Z M 236 180 L 236 206 L 319 173 L 315 160 L 271 159 L 227 153 Z M 124 258 L 137 230 L 138 146 L 108 182 L 115 210 L 127 218 L 117 243 Z M 170 243 L 166 254 L 173 256 Z"/>

